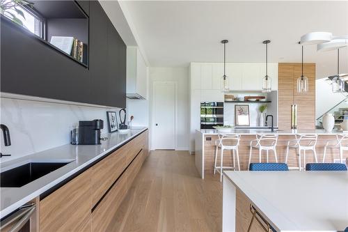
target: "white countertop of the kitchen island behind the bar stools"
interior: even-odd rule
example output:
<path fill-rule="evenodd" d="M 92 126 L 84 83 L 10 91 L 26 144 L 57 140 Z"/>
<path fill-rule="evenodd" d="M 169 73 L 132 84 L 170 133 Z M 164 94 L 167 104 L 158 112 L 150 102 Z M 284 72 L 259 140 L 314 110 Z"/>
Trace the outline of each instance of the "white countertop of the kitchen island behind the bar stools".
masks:
<path fill-rule="evenodd" d="M 197 130 L 202 134 L 279 134 L 279 135 L 292 135 L 292 134 L 318 134 L 318 135 L 335 135 L 343 134 L 344 132 L 333 130 L 332 132 L 326 132 L 325 130 L 277 130 L 271 132 L 270 129 L 260 128 L 260 129 L 231 129 L 230 132 L 219 132 L 218 130 Z"/>

